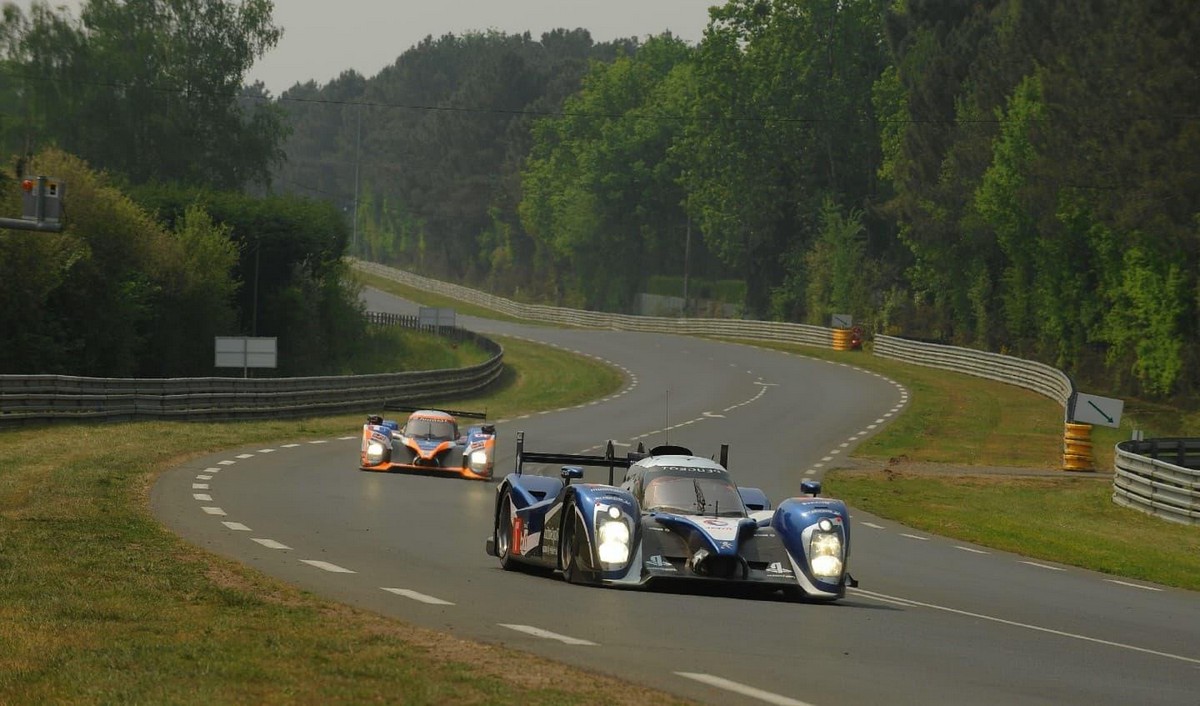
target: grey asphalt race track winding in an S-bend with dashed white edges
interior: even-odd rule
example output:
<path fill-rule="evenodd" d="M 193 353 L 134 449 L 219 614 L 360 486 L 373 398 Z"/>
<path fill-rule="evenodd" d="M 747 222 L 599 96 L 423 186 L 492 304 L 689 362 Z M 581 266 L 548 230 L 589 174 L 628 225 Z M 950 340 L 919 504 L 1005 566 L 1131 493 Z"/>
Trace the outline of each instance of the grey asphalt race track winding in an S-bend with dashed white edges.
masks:
<path fill-rule="evenodd" d="M 374 311 L 414 306 L 367 295 Z M 728 443 L 739 484 L 779 502 L 908 399 L 872 373 L 749 346 L 460 324 L 580 351 L 628 376 L 595 403 L 497 420 L 497 479 L 518 430 L 527 449 L 568 453 L 670 437 L 701 455 Z M 571 586 L 484 554 L 494 484 L 360 472 L 359 432 L 196 460 L 163 474 L 154 511 L 199 546 L 331 599 L 710 704 L 1200 704 L 1196 593 L 860 511 L 850 568 L 862 587 L 838 604 Z"/>

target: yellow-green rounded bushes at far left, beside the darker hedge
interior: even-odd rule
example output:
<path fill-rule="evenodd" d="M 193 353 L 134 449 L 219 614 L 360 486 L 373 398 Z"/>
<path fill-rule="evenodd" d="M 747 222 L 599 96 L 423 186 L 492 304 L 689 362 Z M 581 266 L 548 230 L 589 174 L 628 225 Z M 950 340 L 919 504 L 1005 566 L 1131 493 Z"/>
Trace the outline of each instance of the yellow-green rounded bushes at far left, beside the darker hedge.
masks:
<path fill-rule="evenodd" d="M 61 234 L 0 235 L 0 371 L 127 377 L 210 370 L 212 335 L 234 318 L 235 250 L 227 233 L 196 208 L 174 229 L 163 228 L 65 152 L 38 154 L 31 167 L 68 184 L 70 219 Z"/>

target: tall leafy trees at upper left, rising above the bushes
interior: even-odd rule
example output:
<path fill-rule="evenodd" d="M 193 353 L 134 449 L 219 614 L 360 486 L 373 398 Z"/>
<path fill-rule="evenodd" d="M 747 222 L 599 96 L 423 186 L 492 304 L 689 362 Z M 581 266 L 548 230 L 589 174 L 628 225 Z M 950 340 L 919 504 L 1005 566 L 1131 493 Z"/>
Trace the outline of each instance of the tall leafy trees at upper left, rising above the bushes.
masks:
<path fill-rule="evenodd" d="M 55 144 L 140 184 L 222 189 L 265 181 L 282 156 L 281 114 L 238 101 L 275 46 L 271 0 L 88 0 L 78 19 L 6 5 L 0 90 L 13 92 L 5 146 Z"/>

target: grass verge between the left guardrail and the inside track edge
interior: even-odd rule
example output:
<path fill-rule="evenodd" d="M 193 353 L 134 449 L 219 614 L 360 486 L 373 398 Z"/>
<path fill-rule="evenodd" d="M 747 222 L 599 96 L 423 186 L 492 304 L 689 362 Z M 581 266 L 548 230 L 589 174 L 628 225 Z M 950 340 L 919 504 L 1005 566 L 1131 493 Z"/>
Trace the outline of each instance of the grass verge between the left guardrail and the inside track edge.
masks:
<path fill-rule="evenodd" d="M 493 415 L 622 382 L 568 353 L 500 342 L 505 378 L 479 401 Z M 678 702 L 320 600 L 184 543 L 149 514 L 154 479 L 187 457 L 360 423 L 0 431 L 0 704 Z"/>

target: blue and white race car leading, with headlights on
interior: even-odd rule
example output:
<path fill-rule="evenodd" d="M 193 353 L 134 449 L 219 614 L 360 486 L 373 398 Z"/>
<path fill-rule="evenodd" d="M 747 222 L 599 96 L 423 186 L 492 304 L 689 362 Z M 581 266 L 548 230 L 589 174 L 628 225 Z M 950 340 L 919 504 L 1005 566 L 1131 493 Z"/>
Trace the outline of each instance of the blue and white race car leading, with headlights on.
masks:
<path fill-rule="evenodd" d="M 858 582 L 846 573 L 850 511 L 838 499 L 810 497 L 778 508 L 758 489 L 738 487 L 720 462 L 682 447 L 656 447 L 624 459 L 524 450 L 517 433 L 516 471 L 497 486 L 487 554 L 512 570 L 559 570 L 574 584 L 638 587 L 708 581 L 836 600 Z M 560 477 L 523 472 L 524 463 L 562 465 Z M 607 467 L 608 484 L 571 483 L 583 467 Z M 617 468 L 624 471 L 613 485 Z"/>

